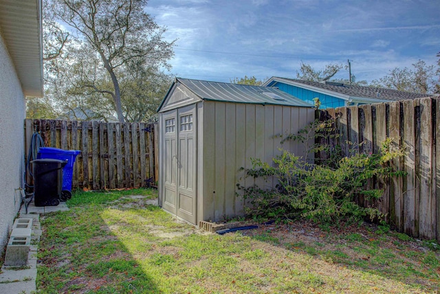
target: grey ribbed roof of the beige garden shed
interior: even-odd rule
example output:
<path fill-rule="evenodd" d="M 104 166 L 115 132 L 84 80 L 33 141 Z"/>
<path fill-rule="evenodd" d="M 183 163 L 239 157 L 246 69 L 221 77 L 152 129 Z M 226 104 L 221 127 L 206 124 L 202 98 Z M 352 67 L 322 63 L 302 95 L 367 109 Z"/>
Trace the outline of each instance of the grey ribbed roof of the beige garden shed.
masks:
<path fill-rule="evenodd" d="M 313 105 L 302 101 L 300 98 L 296 98 L 295 96 L 278 90 L 275 87 L 176 78 L 161 105 L 157 109 L 157 112 L 162 108 L 162 105 L 164 105 L 166 101 L 166 97 L 170 94 L 170 91 L 173 90 L 174 85 L 177 83 L 184 85 L 188 90 L 204 101 L 313 107 Z"/>

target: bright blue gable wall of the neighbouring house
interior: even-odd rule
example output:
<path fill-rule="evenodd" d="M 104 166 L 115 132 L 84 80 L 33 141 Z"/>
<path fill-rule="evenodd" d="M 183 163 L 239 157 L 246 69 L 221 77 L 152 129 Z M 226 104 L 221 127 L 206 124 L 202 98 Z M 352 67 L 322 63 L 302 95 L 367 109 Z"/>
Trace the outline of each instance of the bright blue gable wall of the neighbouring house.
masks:
<path fill-rule="evenodd" d="M 270 83 L 270 85 L 268 86 L 278 87 L 279 90 L 291 94 L 292 96 L 295 96 L 297 98 L 300 98 L 301 100 L 310 103 L 312 105 L 314 104 L 314 98 L 318 97 L 321 102 L 320 109 L 345 106 L 344 99 L 303 89 L 300 87 L 296 87 L 294 85 L 287 85 L 285 83 L 275 82 L 275 83 Z"/>

